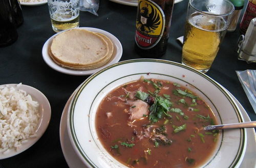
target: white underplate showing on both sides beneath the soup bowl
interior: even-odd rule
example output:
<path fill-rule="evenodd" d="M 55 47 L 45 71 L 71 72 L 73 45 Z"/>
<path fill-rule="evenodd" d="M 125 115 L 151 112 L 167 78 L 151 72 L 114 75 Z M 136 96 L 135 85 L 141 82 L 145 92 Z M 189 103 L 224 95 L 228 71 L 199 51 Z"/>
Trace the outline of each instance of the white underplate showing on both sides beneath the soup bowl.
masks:
<path fill-rule="evenodd" d="M 227 91 L 228 92 L 228 91 Z M 59 136 L 60 136 L 60 145 L 63 152 L 63 155 L 69 165 L 70 168 L 86 168 L 87 166 L 83 164 L 81 159 L 76 154 L 69 138 L 68 128 L 67 128 L 67 117 L 68 117 L 68 107 L 70 106 L 71 99 L 76 91 L 70 96 L 69 100 L 67 101 L 65 107 L 63 108 L 60 126 L 59 126 Z M 229 92 L 228 92 L 229 93 Z M 251 121 L 249 116 L 247 115 L 245 109 L 240 104 L 240 102 L 231 94 L 230 96 L 234 99 L 237 103 L 245 122 Z M 244 159 L 239 166 L 240 168 L 244 167 L 255 167 L 256 160 L 254 158 L 254 153 L 256 152 L 256 135 L 254 128 L 246 128 L 247 132 L 247 146 L 244 155 Z"/>

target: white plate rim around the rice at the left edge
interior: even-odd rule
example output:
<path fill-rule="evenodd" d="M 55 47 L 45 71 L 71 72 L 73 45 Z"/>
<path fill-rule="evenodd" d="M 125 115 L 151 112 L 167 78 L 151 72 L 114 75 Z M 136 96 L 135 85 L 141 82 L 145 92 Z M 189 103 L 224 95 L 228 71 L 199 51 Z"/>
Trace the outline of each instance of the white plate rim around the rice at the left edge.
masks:
<path fill-rule="evenodd" d="M 6 85 L 1 85 L 1 86 L 6 86 Z M 35 100 L 39 103 L 40 119 L 39 119 L 37 129 L 35 132 L 36 136 L 33 138 L 32 137 L 29 138 L 28 141 L 26 143 L 24 143 L 19 148 L 18 151 L 12 149 L 7 154 L 0 153 L 0 159 L 12 157 L 19 153 L 22 153 L 23 151 L 27 150 L 32 145 L 34 145 L 38 141 L 38 139 L 42 136 L 42 134 L 45 133 L 45 131 L 49 125 L 50 119 L 51 119 L 51 106 L 50 106 L 48 99 L 46 98 L 46 96 L 44 94 L 42 94 L 37 89 L 27 86 L 27 85 L 20 85 L 19 87 L 17 87 L 17 84 L 8 84 L 8 86 L 13 87 L 14 89 L 20 89 L 20 90 L 26 91 L 27 94 L 31 95 L 33 100 Z"/>

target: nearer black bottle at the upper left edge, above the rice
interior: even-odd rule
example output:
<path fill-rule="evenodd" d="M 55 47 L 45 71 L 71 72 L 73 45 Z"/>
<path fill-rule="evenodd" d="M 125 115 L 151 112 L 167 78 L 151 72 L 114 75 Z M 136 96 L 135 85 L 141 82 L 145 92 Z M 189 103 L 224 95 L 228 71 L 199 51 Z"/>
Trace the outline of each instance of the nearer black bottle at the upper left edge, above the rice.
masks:
<path fill-rule="evenodd" d="M 0 0 L 0 22 L 0 47 L 3 47 L 12 44 L 18 38 L 9 0 Z"/>

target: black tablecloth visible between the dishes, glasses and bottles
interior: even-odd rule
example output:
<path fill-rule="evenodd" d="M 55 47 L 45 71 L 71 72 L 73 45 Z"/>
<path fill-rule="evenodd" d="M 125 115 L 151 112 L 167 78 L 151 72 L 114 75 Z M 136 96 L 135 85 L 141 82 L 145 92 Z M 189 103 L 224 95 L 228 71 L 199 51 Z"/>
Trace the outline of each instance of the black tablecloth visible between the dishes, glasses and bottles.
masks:
<path fill-rule="evenodd" d="M 160 59 L 181 63 L 182 46 L 176 39 L 183 36 L 187 3 L 188 0 L 184 0 L 174 6 L 167 51 Z M 44 62 L 42 46 L 55 34 L 48 5 L 22 8 L 24 23 L 17 29 L 17 41 L 0 48 L 0 85 L 22 82 L 40 90 L 51 104 L 52 115 L 39 141 L 23 153 L 0 160 L 0 167 L 68 167 L 59 140 L 60 118 L 68 98 L 89 76 L 63 74 Z M 99 16 L 80 12 L 80 27 L 95 27 L 116 36 L 123 47 L 120 61 L 139 59 L 141 57 L 134 51 L 136 12 L 137 7 L 100 1 Z M 238 60 L 235 48 L 239 36 L 239 29 L 226 34 L 217 58 L 206 75 L 225 87 L 242 104 L 250 119 L 256 120 L 236 74 L 237 70 L 256 69 L 256 66 Z"/>

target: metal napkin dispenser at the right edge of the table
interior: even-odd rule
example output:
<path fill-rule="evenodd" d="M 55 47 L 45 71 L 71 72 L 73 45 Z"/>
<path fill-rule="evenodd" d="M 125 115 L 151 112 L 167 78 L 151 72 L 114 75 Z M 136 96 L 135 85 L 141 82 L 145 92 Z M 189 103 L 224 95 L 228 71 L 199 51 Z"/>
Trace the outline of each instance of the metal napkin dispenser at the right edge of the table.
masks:
<path fill-rule="evenodd" d="M 256 63 L 256 17 L 250 21 L 248 29 L 238 40 L 238 59 Z"/>

